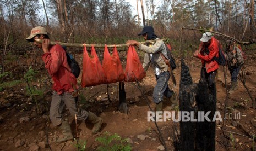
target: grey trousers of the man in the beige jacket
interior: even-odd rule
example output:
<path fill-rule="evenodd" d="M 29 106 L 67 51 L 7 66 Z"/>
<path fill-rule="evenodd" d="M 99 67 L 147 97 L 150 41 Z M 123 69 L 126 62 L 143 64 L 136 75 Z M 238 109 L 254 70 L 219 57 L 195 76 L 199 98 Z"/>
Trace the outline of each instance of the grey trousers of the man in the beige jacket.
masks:
<path fill-rule="evenodd" d="M 171 97 L 173 95 L 173 91 L 168 87 L 168 80 L 170 79 L 169 72 L 162 72 L 159 75 L 156 75 L 156 86 L 153 92 L 153 100 L 155 103 L 159 103 L 163 100 L 164 95 L 166 97 Z"/>

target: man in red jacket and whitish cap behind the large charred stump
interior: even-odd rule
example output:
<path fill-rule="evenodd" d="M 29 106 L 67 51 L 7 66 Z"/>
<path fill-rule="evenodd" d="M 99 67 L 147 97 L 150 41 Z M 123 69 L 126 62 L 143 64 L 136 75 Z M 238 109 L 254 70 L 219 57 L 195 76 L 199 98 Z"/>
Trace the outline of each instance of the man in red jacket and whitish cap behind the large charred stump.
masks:
<path fill-rule="evenodd" d="M 219 69 L 219 64 L 214 60 L 214 57 L 219 57 L 219 41 L 210 32 L 205 32 L 200 41 L 199 50 L 196 50 L 193 56 L 201 59 L 201 75 L 205 75 L 210 90 L 213 90 L 216 72 Z"/>

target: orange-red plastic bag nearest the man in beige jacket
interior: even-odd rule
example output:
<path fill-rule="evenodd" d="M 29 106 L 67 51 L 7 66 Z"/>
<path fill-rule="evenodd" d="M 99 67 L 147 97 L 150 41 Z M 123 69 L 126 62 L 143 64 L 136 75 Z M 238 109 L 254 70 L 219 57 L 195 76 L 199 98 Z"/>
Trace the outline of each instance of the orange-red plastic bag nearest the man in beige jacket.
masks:
<path fill-rule="evenodd" d="M 127 53 L 126 62 L 126 82 L 134 82 L 146 77 L 146 73 L 141 65 L 139 56 L 134 46 L 130 45 Z"/>

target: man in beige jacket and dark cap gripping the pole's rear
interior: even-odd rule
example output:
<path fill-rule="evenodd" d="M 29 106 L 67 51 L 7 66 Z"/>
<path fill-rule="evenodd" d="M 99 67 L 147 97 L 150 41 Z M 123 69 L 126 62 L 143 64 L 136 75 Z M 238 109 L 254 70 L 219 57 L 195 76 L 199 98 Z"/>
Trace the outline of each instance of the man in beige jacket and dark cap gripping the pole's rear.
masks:
<path fill-rule="evenodd" d="M 177 103 L 177 97 L 175 92 L 170 90 L 168 87 L 168 80 L 170 75 L 173 75 L 173 73 L 170 71 L 171 68 L 165 62 L 165 59 L 168 58 L 165 43 L 157 38 L 152 26 L 145 26 L 142 32 L 138 35 L 142 35 L 145 40 L 156 40 L 155 44 L 147 45 L 141 44 L 135 40 L 128 40 L 126 42 L 127 45 L 136 45 L 139 50 L 145 52 L 143 63 L 143 68 L 145 71 L 148 70 L 150 63 L 154 65 L 157 84 L 154 88 L 153 99 L 156 103 L 156 111 L 162 111 L 162 101 L 164 95 L 169 98 L 172 106 L 174 107 Z M 176 84 L 174 76 L 171 78 L 173 83 Z"/>

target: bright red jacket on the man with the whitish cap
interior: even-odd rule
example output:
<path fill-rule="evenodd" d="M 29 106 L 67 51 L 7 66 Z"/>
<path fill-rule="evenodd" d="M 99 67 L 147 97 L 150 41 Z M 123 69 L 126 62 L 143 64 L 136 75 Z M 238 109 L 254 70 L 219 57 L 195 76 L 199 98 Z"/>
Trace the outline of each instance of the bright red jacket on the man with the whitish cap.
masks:
<path fill-rule="evenodd" d="M 200 47 L 202 46 L 200 45 Z M 198 54 L 198 58 L 201 59 L 203 67 L 205 64 L 207 73 L 219 69 L 219 64 L 217 63 L 217 61 L 214 60 L 214 56 L 219 57 L 219 40 L 212 37 L 211 44 L 208 46 L 208 50 L 209 50 L 209 55 L 206 55 L 206 54 L 204 55 L 204 51 L 205 51 L 204 48 L 200 52 L 200 54 Z"/>

